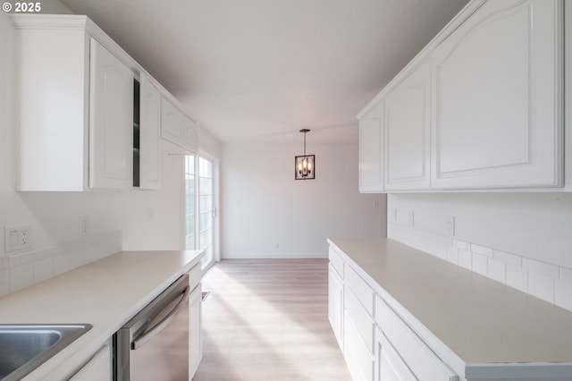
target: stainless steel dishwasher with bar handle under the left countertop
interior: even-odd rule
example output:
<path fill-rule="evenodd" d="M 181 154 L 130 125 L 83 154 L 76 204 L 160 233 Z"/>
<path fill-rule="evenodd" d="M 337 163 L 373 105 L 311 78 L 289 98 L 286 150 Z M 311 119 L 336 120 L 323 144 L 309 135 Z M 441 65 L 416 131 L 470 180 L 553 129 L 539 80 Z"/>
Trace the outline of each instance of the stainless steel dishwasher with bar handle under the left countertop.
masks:
<path fill-rule="evenodd" d="M 114 381 L 189 381 L 189 275 L 114 334 Z"/>

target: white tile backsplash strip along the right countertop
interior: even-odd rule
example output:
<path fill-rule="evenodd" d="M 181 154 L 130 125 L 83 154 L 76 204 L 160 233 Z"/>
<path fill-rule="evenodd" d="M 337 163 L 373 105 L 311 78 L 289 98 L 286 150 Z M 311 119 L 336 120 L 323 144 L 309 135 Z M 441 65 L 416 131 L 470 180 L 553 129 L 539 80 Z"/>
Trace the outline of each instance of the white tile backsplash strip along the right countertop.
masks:
<path fill-rule="evenodd" d="M 572 311 L 570 268 L 484 247 L 478 242 L 425 232 L 410 225 L 390 222 L 387 236 Z"/>

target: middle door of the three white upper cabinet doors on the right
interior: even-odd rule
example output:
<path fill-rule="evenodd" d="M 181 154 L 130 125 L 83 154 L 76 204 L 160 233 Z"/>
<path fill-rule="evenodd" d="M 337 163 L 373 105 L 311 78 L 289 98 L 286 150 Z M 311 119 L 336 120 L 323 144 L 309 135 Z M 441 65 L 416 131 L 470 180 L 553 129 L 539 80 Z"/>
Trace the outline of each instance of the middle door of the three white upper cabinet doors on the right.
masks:
<path fill-rule="evenodd" d="M 385 97 L 385 190 L 429 189 L 430 79 L 422 63 Z"/>

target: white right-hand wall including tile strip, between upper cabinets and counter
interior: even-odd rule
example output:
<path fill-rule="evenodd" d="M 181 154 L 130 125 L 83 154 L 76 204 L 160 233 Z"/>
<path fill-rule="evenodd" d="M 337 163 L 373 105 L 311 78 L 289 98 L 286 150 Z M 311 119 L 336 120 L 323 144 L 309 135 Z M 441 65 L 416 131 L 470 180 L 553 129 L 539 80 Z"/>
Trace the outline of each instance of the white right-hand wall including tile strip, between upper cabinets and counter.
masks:
<path fill-rule="evenodd" d="M 572 310 L 572 193 L 391 194 L 388 237 Z"/>

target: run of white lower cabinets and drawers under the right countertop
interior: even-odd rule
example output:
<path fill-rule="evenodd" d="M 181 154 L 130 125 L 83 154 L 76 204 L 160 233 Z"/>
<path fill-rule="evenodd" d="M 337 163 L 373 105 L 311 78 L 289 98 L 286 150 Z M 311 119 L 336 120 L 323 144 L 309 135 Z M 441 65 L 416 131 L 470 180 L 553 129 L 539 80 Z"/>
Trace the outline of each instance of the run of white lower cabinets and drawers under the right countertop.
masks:
<path fill-rule="evenodd" d="M 379 286 L 344 258 L 330 248 L 328 315 L 353 381 L 459 381 L 374 291 Z"/>

